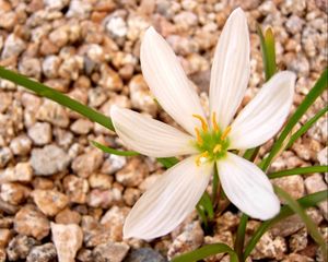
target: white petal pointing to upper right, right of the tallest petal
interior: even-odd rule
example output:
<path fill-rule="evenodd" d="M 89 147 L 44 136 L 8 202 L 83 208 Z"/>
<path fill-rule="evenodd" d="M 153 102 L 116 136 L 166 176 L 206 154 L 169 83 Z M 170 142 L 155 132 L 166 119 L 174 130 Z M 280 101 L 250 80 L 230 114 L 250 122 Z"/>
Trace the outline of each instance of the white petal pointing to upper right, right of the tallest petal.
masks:
<path fill-rule="evenodd" d="M 233 122 L 230 148 L 258 146 L 279 131 L 293 103 L 295 78 L 294 73 L 283 71 L 263 85 Z"/>

